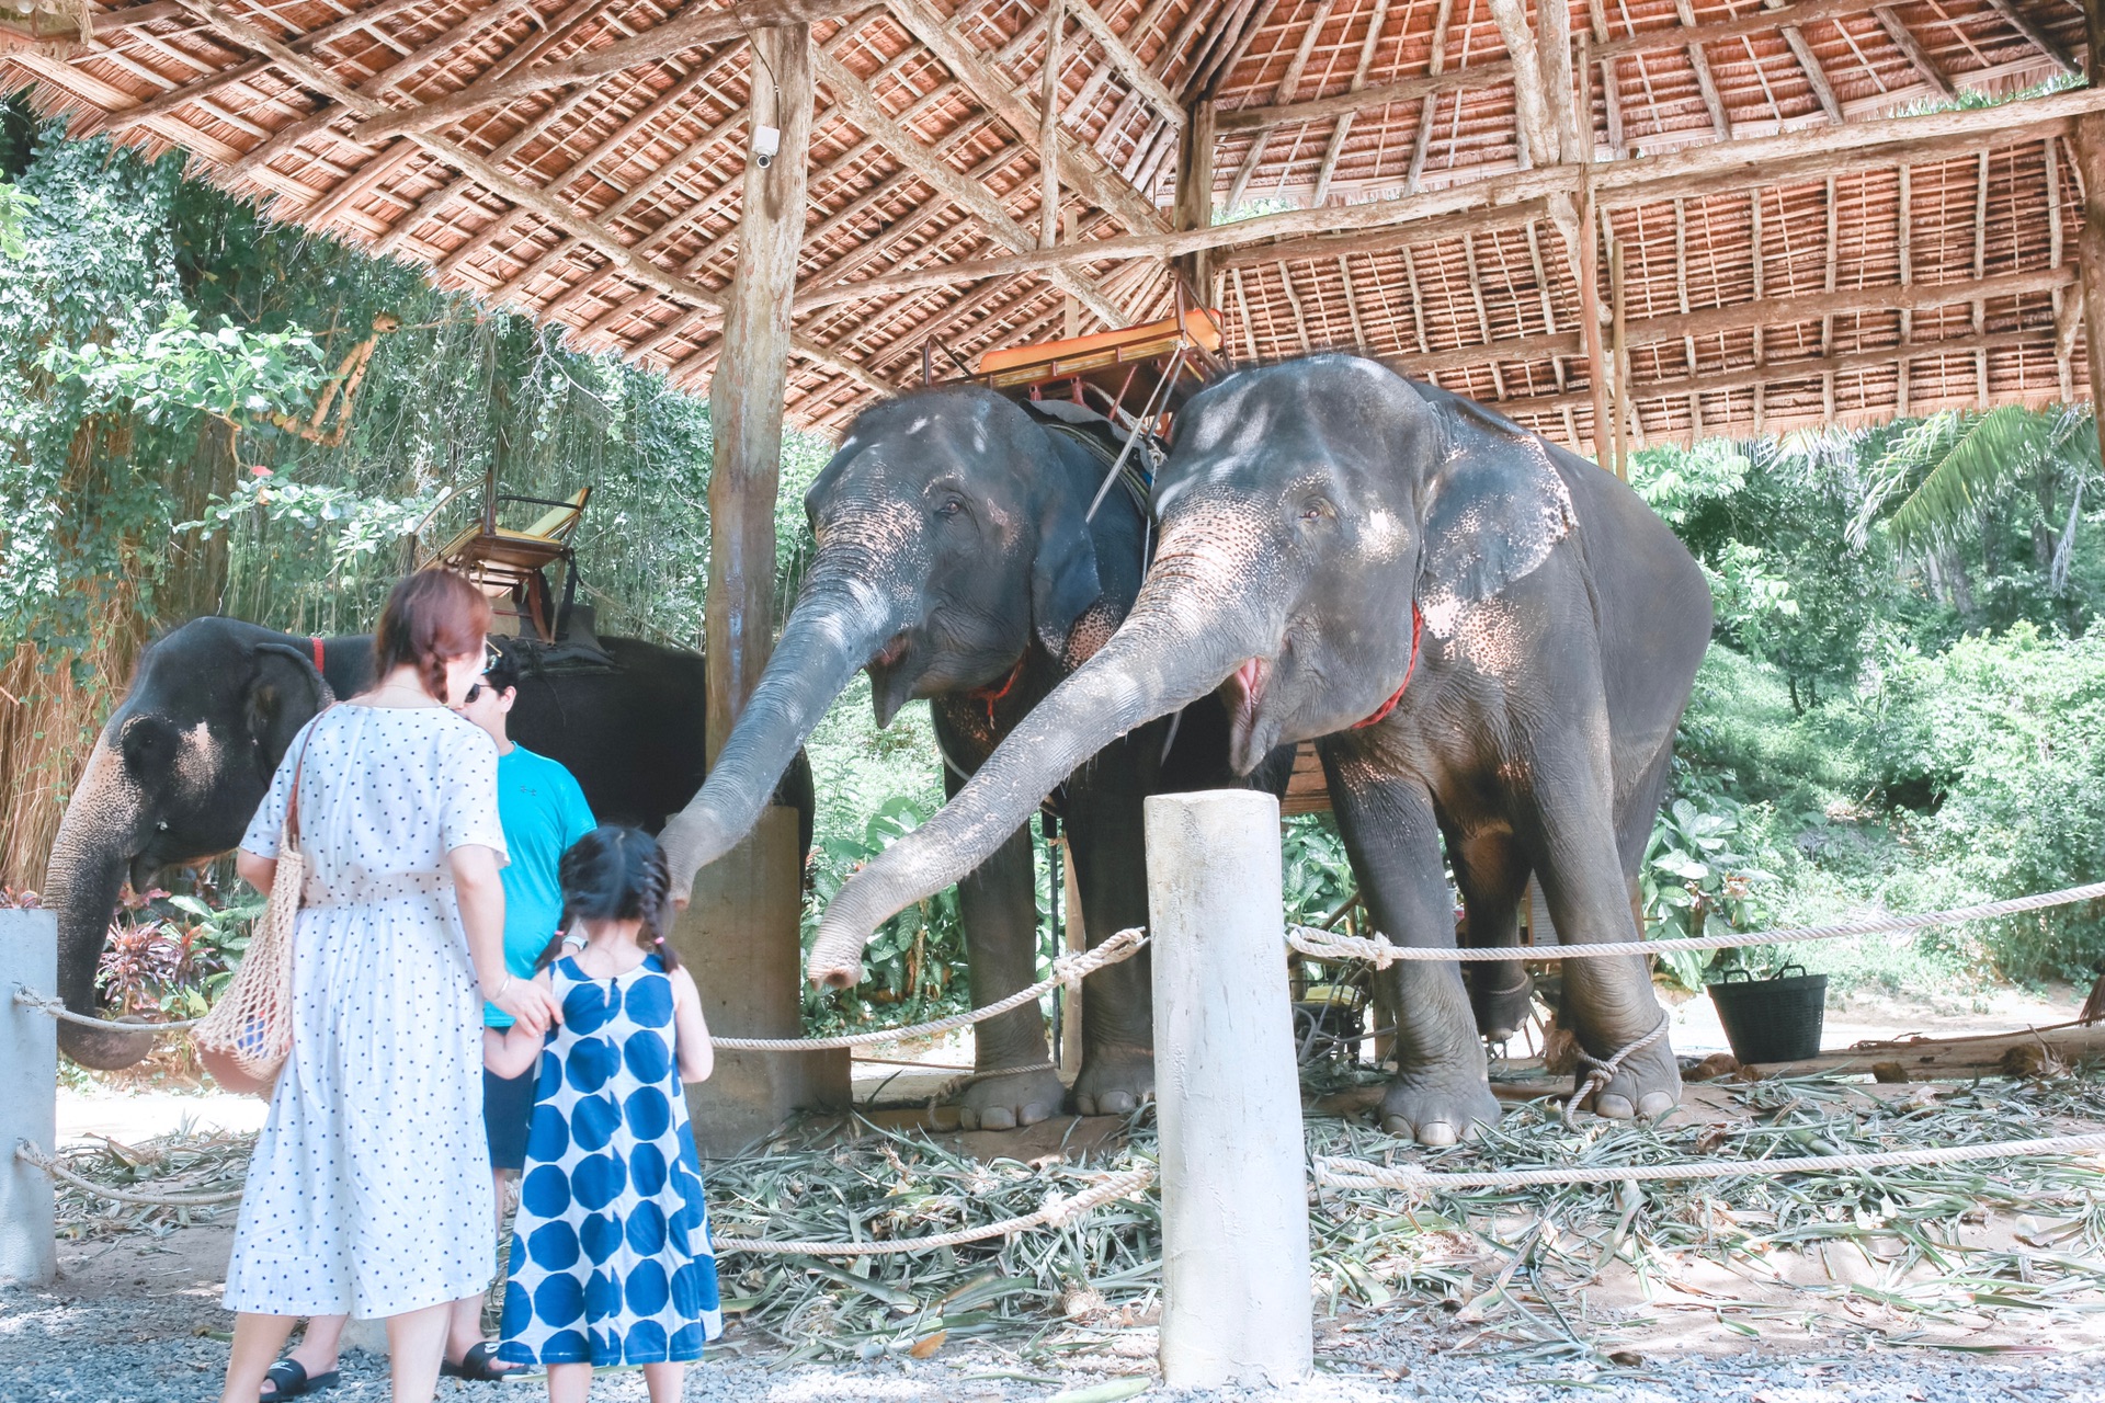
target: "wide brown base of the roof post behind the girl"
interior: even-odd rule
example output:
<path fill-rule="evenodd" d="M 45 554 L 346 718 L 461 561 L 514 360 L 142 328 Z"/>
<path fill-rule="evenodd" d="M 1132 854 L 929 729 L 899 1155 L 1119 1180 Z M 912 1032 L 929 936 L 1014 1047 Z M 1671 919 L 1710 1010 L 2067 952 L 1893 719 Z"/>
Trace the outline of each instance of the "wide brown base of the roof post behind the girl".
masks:
<path fill-rule="evenodd" d="M 796 810 L 760 814 L 745 841 L 701 869 L 671 942 L 695 974 L 709 1033 L 802 1037 Z M 718 1052 L 716 1075 L 686 1090 L 695 1148 L 724 1159 L 796 1111 L 848 1109 L 848 1052 Z"/>

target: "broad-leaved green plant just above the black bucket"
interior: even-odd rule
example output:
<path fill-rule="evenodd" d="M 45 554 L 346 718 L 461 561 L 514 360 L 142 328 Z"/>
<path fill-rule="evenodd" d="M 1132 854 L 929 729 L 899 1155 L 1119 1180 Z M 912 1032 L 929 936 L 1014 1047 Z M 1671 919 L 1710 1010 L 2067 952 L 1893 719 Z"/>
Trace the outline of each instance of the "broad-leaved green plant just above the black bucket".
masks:
<path fill-rule="evenodd" d="M 1688 799 L 1676 799 L 1659 810 L 1638 871 L 1644 926 L 1652 938 L 1722 936 L 1753 930 L 1766 919 L 1760 888 L 1775 877 L 1735 852 L 1737 837 L 1739 814 L 1732 808 L 1699 810 Z M 1751 963 L 1749 951 L 1659 955 L 1673 982 L 1690 991 L 1741 961 Z"/>

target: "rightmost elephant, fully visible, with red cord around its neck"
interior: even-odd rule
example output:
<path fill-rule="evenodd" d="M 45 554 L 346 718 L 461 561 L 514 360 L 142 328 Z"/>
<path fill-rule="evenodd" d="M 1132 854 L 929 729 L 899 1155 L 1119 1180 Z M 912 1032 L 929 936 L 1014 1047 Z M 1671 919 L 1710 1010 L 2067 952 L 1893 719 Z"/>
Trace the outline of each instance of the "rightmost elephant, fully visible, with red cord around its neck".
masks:
<path fill-rule="evenodd" d="M 1111 736 L 1219 690 L 1246 770 L 1316 738 L 1379 928 L 1511 944 L 1530 873 L 1564 942 L 1629 940 L 1631 883 L 1709 644 L 1703 574 L 1600 467 L 1354 355 L 1227 377 L 1179 414 L 1156 480 L 1160 549 L 1124 625 L 928 825 L 848 881 L 810 976 L 859 978 L 869 930 L 968 871 Z M 1452 963 L 1387 970 L 1398 1075 L 1383 1123 L 1448 1144 L 1499 1106 Z M 1680 1096 L 1638 957 L 1564 965 L 1591 1096 Z M 1648 1041 L 1646 1041 L 1648 1039 Z"/>

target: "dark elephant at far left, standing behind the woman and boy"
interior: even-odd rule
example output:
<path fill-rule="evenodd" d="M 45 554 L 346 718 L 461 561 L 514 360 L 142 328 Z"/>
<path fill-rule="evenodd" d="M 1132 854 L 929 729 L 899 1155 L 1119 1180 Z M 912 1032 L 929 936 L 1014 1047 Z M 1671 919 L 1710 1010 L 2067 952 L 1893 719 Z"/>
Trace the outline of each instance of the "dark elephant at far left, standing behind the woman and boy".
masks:
<path fill-rule="evenodd" d="M 562 761 L 602 820 L 657 831 L 701 787 L 701 654 L 604 637 L 613 667 L 543 671 L 539 646 L 495 642 L 526 650 L 512 738 Z M 51 848 L 44 904 L 59 917 L 69 1010 L 97 1012 L 95 970 L 122 886 L 143 892 L 166 867 L 234 848 L 299 728 L 370 682 L 370 633 L 297 637 L 236 618 L 194 618 L 139 656 Z M 810 768 L 798 755 L 785 770 L 781 801 L 802 814 L 808 850 Z M 59 1045 L 84 1066 L 114 1069 L 152 1043 L 61 1022 Z"/>

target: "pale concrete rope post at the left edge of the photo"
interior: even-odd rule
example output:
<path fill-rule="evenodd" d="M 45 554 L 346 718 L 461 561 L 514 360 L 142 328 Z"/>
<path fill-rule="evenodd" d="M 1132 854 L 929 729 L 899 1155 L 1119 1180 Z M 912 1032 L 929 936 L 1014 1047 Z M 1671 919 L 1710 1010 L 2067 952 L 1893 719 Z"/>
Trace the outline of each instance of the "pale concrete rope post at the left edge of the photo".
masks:
<path fill-rule="evenodd" d="M 59 917 L 0 911 L 0 1285 L 48 1285 L 59 1275 L 51 1178 L 19 1159 L 27 1140 L 59 1148 L 59 1024 L 15 1003 L 15 989 L 59 993 Z"/>

